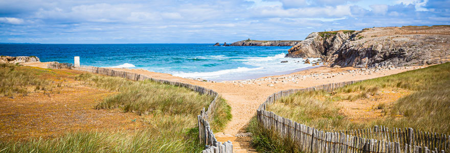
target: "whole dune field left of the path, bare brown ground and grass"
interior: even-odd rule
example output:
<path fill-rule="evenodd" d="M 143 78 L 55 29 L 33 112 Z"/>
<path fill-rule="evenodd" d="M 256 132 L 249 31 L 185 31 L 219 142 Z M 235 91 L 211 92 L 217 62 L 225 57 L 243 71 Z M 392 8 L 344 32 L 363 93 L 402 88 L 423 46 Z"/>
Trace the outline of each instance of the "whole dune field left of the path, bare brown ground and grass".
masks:
<path fill-rule="evenodd" d="M 198 152 L 203 148 L 198 142 L 196 115 L 212 97 L 149 81 L 25 66 L 10 70 L 10 66 L 0 72 L 17 71 L 28 75 L 8 76 L 31 76 L 32 82 L 48 84 L 42 90 L 24 84 L 20 88 L 26 92 L 0 97 L 0 126 L 4 127 L 0 129 L 0 152 Z M 173 90 L 174 97 L 158 97 L 159 90 Z M 151 98 L 152 105 L 142 105 Z M 189 98 L 193 99 L 188 106 L 195 110 L 181 109 L 181 101 Z M 112 101 L 117 105 L 95 109 Z M 229 106 L 220 101 L 222 113 L 215 117 L 227 118 Z M 226 121 L 218 121 L 222 124 L 216 128 Z"/>

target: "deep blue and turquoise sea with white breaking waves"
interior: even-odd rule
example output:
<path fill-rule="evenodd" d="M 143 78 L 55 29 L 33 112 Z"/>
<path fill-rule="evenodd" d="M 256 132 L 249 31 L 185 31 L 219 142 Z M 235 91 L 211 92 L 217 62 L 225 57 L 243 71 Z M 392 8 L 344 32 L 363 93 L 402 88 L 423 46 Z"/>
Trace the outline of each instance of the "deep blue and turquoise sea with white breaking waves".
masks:
<path fill-rule="evenodd" d="M 213 44 L 0 44 L 0 55 L 37 56 L 41 62 L 60 63 L 74 63 L 74 56 L 79 56 L 81 65 L 143 68 L 184 78 L 231 81 L 286 74 L 311 66 L 303 64 L 302 59 L 284 58 L 289 48 Z"/>

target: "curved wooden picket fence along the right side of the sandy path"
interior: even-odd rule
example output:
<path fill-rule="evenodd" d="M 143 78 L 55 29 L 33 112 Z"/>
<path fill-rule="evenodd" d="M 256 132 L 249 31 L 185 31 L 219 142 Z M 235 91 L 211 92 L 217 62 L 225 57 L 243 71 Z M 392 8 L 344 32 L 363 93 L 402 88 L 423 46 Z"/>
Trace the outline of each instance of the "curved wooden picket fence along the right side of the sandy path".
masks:
<path fill-rule="evenodd" d="M 361 81 L 332 83 L 303 89 L 291 89 L 274 93 L 267 97 L 257 110 L 258 122 L 268 130 L 276 131 L 281 137 L 296 142 L 303 152 L 448 152 L 450 136 L 421 132 L 412 128 L 387 128 L 374 126 L 373 129 L 326 131 L 292 121 L 266 111 L 266 106 L 283 96 L 311 90 L 333 91 Z"/>

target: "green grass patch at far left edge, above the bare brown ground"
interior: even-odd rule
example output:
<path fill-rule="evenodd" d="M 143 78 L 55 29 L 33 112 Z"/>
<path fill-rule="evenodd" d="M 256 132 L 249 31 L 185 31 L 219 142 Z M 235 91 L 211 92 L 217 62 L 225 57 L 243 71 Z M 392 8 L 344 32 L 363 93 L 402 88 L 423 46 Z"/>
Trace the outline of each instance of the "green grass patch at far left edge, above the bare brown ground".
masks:
<path fill-rule="evenodd" d="M 13 96 L 28 94 L 32 91 L 50 90 L 50 83 L 38 77 L 40 69 L 24 69 L 13 64 L 0 64 L 0 94 Z"/>

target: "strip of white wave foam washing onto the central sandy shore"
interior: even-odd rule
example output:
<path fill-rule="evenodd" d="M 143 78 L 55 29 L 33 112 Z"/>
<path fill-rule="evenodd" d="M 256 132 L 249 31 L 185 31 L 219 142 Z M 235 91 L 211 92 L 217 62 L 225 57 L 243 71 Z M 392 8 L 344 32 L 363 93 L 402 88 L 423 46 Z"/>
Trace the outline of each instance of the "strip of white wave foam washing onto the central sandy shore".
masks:
<path fill-rule="evenodd" d="M 239 72 L 246 72 L 246 71 L 253 71 L 253 70 L 259 70 L 263 69 L 264 67 L 257 67 L 257 68 L 247 68 L 247 67 L 238 67 L 234 69 L 224 69 L 224 70 L 218 70 L 218 71 L 212 71 L 212 72 L 178 72 L 173 73 L 173 75 L 177 77 L 183 77 L 183 78 L 217 78 L 222 77 L 222 75 L 230 74 L 230 73 L 239 73 Z"/>

